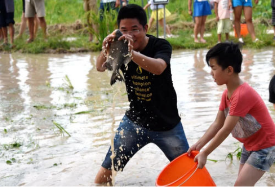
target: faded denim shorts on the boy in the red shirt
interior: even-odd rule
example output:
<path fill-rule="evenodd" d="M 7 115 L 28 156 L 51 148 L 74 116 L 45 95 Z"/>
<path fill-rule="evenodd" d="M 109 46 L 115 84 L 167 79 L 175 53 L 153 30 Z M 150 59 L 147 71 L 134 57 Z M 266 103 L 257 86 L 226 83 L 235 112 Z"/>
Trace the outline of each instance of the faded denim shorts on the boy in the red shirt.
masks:
<path fill-rule="evenodd" d="M 262 171 L 269 171 L 275 162 L 275 146 L 260 149 L 258 151 L 248 151 L 243 146 L 240 164 L 250 164 Z"/>

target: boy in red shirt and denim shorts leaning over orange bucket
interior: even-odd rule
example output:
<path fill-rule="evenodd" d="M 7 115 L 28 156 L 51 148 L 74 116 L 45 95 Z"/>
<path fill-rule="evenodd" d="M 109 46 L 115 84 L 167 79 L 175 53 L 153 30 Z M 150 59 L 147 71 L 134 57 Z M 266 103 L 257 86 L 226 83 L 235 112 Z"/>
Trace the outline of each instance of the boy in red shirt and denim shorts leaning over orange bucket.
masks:
<path fill-rule="evenodd" d="M 243 143 L 238 178 L 234 186 L 254 186 L 275 162 L 275 124 L 264 101 L 239 77 L 242 54 L 237 44 L 220 43 L 206 54 L 210 74 L 217 85 L 226 84 L 215 121 L 192 150 L 206 148 L 194 159 L 203 168 L 207 156 L 231 133 Z"/>

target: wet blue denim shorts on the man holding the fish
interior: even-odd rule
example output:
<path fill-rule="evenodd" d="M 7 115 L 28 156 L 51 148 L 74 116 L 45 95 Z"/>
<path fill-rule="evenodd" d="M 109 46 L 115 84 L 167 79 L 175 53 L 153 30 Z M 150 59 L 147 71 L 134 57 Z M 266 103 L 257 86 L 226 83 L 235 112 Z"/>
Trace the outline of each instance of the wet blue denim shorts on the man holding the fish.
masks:
<path fill-rule="evenodd" d="M 138 150 L 148 143 L 155 143 L 169 161 L 187 152 L 189 148 L 181 122 L 169 131 L 150 131 L 133 123 L 128 117 L 124 116 L 115 133 L 115 170 L 122 171 Z M 111 155 L 110 147 L 102 163 L 102 167 L 109 170 L 111 170 L 112 166 Z"/>

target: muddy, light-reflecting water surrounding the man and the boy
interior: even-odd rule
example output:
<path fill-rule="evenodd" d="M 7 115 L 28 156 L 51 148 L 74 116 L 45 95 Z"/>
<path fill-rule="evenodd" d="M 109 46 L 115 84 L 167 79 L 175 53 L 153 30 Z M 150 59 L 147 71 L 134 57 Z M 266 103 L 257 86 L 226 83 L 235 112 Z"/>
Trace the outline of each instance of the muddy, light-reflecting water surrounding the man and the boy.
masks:
<path fill-rule="evenodd" d="M 225 89 L 213 82 L 205 63 L 206 52 L 178 50 L 171 60 L 189 144 L 196 142 L 214 120 Z M 117 126 L 129 105 L 124 84 L 111 87 L 111 72 L 95 70 L 97 55 L 1 54 L 0 186 L 94 186 L 93 179 L 111 142 L 112 113 Z M 244 49 L 243 55 L 240 75 L 262 96 L 275 119 L 268 102 L 269 80 L 275 74 L 274 49 Z M 73 90 L 66 85 L 66 75 Z M 61 136 L 53 121 L 71 137 Z M 209 159 L 225 160 L 229 152 L 241 146 L 236 142 L 230 136 Z M 124 172 L 117 174 L 115 185 L 154 186 L 166 164 L 168 160 L 160 149 L 149 144 L 131 159 Z M 234 158 L 232 162 L 208 161 L 206 167 L 218 186 L 232 186 L 238 165 Z M 257 186 L 275 186 L 274 178 L 275 165 Z"/>

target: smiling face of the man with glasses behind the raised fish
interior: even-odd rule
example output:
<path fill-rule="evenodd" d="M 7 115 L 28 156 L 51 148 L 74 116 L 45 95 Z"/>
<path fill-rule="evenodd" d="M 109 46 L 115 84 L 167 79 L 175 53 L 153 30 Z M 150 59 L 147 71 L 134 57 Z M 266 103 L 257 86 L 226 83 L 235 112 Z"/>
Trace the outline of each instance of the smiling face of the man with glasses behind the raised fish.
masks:
<path fill-rule="evenodd" d="M 133 37 L 134 50 L 141 51 L 145 43 L 146 32 L 148 25 L 144 27 L 138 22 L 136 18 L 126 18 L 120 20 L 119 30 L 122 34 L 129 34 Z"/>

